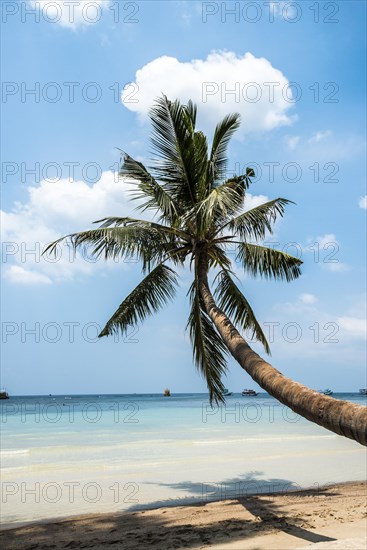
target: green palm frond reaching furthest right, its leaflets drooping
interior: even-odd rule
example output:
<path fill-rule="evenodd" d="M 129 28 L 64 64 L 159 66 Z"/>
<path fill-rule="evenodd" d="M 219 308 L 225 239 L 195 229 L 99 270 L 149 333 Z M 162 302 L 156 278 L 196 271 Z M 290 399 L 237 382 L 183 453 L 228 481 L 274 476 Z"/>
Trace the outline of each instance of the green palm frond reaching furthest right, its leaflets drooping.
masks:
<path fill-rule="evenodd" d="M 301 275 L 302 261 L 280 250 L 250 243 L 238 243 L 236 261 L 253 276 L 292 281 Z"/>

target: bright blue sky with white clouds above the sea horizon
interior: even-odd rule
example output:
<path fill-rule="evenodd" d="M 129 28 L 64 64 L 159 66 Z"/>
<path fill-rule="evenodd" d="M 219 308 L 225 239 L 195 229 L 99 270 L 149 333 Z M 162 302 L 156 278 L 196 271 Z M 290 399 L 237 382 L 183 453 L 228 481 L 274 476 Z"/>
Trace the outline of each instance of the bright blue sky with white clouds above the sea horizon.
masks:
<path fill-rule="evenodd" d="M 235 266 L 271 362 L 316 389 L 365 387 L 366 4 L 80 0 L 74 20 L 61 0 L 47 4 L 2 3 L 1 384 L 205 391 L 185 335 L 189 271 L 176 301 L 127 340 L 97 341 L 139 266 L 70 261 L 66 247 L 55 263 L 39 254 L 104 215 L 133 213 L 116 148 L 149 164 L 146 113 L 164 92 L 196 101 L 209 135 L 240 112 L 228 170 L 255 168 L 248 205 L 297 203 L 269 242 L 302 255 L 302 277 L 251 280 Z M 232 360 L 225 384 L 256 387 Z"/>

